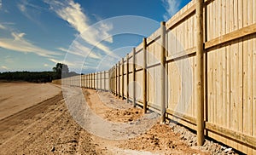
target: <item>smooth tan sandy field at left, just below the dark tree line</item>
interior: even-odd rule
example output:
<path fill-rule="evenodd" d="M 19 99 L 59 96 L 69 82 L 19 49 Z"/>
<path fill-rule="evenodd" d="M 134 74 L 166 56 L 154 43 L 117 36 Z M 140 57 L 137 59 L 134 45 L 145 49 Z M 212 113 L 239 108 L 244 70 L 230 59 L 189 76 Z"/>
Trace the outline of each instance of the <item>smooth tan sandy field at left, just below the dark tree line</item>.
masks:
<path fill-rule="evenodd" d="M 0 83 L 0 120 L 61 92 L 49 83 Z"/>

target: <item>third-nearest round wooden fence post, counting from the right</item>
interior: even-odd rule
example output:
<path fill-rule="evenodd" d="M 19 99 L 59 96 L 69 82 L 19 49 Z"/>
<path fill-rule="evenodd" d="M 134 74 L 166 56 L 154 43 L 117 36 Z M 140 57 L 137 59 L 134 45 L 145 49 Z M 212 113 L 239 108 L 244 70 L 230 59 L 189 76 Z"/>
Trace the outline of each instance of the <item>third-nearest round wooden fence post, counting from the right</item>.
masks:
<path fill-rule="evenodd" d="M 143 112 L 147 113 L 147 38 L 143 38 Z"/>

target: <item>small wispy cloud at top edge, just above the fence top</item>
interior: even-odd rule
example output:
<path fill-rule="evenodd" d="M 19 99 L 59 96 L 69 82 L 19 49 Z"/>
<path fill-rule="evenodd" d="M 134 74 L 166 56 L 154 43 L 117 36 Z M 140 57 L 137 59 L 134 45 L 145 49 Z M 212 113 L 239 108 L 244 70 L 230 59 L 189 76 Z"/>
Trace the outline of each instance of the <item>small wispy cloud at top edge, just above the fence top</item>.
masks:
<path fill-rule="evenodd" d="M 164 14 L 164 19 L 169 20 L 172 17 L 172 15 L 177 13 L 180 6 L 180 1 L 179 0 L 162 0 L 162 3 L 164 3 L 164 6 L 166 8 L 166 14 Z"/>

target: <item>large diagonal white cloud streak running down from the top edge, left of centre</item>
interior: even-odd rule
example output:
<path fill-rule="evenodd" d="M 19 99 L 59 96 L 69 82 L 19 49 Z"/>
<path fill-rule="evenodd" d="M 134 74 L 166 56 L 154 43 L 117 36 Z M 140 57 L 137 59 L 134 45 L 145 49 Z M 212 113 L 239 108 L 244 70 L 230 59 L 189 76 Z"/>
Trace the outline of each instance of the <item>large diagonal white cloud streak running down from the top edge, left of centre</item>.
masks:
<path fill-rule="evenodd" d="M 55 11 L 55 13 L 62 19 L 66 20 L 70 26 L 72 26 L 80 36 L 84 39 L 85 43 L 89 43 L 92 46 L 96 46 L 98 49 L 102 49 L 106 54 L 111 54 L 112 51 L 102 44 L 102 38 L 107 38 L 105 40 L 108 43 L 113 42 L 112 36 L 109 31 L 113 29 L 113 26 L 109 23 L 102 23 L 98 28 L 90 27 L 89 18 L 84 14 L 79 3 L 74 3 L 73 0 L 70 1 L 53 1 L 44 0 L 48 3 L 50 9 Z M 88 31 L 88 29 L 90 29 Z M 86 34 L 83 32 L 86 31 Z M 91 46 L 84 46 L 84 48 L 90 49 Z M 78 48 L 81 48 L 79 45 Z"/>

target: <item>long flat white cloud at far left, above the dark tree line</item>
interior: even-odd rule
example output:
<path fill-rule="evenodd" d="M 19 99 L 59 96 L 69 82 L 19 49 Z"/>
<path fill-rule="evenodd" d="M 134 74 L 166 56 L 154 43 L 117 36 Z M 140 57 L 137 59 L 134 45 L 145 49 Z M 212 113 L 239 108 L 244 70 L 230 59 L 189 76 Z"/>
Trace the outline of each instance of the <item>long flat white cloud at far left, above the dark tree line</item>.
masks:
<path fill-rule="evenodd" d="M 27 41 L 24 36 L 25 33 L 11 33 L 14 38 L 0 38 L 0 48 L 15 50 L 22 53 L 34 53 L 36 55 L 44 57 L 52 57 L 53 55 L 61 55 L 60 53 L 50 51 L 47 49 L 42 49 L 30 41 Z"/>

